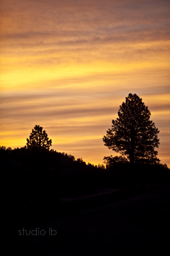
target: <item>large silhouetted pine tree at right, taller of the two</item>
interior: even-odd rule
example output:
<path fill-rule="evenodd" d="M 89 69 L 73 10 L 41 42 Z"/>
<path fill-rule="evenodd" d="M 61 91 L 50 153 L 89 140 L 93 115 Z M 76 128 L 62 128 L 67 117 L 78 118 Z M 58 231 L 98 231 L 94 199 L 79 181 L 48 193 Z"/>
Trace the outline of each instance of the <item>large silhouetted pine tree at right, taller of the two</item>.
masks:
<path fill-rule="evenodd" d="M 129 93 L 118 111 L 118 118 L 112 120 L 112 128 L 104 136 L 104 145 L 120 153 L 120 161 L 159 162 L 154 150 L 160 144 L 158 128 L 150 120 L 150 111 L 136 94 Z"/>

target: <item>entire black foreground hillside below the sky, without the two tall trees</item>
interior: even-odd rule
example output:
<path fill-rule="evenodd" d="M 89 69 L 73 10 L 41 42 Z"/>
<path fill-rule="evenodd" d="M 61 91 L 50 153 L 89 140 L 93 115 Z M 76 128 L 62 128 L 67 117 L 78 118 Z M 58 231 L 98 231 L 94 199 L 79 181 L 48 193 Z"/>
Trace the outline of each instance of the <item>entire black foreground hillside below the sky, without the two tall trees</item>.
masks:
<path fill-rule="evenodd" d="M 166 165 L 105 169 L 24 148 L 1 148 L 0 162 L 6 255 L 153 255 L 169 243 Z"/>

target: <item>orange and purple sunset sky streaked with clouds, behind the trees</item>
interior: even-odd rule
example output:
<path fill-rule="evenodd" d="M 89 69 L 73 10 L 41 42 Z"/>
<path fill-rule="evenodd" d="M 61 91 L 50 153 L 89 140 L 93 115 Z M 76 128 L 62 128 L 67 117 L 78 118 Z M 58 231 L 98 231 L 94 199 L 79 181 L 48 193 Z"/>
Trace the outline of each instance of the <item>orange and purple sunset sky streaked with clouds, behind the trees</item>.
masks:
<path fill-rule="evenodd" d="M 168 0 L 1 0 L 0 145 L 23 147 L 40 125 L 52 149 L 102 164 L 136 93 L 170 167 L 169 12 Z"/>

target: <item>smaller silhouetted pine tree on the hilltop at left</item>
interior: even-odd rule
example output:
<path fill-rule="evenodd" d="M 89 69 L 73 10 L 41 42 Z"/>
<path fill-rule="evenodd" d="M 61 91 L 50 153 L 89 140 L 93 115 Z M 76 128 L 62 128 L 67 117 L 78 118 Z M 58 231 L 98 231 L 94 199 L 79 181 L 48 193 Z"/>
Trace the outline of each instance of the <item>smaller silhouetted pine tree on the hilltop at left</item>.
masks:
<path fill-rule="evenodd" d="M 27 138 L 27 149 L 37 149 L 37 150 L 46 150 L 49 151 L 50 146 L 52 144 L 52 140 L 47 137 L 47 133 L 45 130 L 43 131 L 43 127 L 35 126 L 32 129 L 31 135 L 29 139 Z"/>

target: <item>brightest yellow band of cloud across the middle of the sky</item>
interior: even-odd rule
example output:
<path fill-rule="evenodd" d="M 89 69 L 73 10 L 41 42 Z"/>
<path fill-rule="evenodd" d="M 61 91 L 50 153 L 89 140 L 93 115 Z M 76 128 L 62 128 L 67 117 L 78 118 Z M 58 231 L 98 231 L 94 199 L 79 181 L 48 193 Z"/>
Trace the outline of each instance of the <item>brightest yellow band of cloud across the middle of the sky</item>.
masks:
<path fill-rule="evenodd" d="M 12 61 L 12 60 L 11 60 Z M 13 61 L 12 61 L 13 63 Z M 115 76 L 121 76 L 122 73 L 127 74 L 127 78 L 132 77 L 132 73 L 146 72 L 146 70 L 160 69 L 160 71 L 167 69 L 167 62 L 132 62 L 125 63 L 121 59 L 118 63 L 93 61 L 90 63 L 68 63 L 61 65 L 38 65 L 28 67 L 9 64 L 8 68 L 3 67 L 3 73 L 1 74 L 1 90 L 30 90 L 34 87 L 41 87 L 45 83 L 44 87 L 58 87 L 61 83 L 63 86 L 79 87 L 82 86 L 93 87 L 103 86 L 103 83 L 112 83 L 115 80 Z M 98 79 L 97 79 L 98 77 Z M 108 77 L 108 79 L 106 79 Z M 90 78 L 87 81 L 86 78 Z M 105 81 L 103 81 L 106 79 Z M 150 78 L 149 78 L 150 79 Z M 76 80 L 76 81 L 75 81 Z M 95 81 L 94 81 L 95 80 Z M 52 83 L 55 81 L 54 83 Z M 68 83 L 70 81 L 70 83 Z"/>

